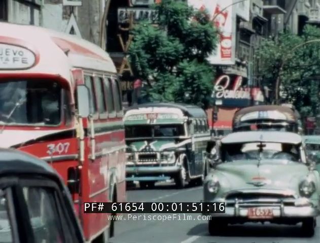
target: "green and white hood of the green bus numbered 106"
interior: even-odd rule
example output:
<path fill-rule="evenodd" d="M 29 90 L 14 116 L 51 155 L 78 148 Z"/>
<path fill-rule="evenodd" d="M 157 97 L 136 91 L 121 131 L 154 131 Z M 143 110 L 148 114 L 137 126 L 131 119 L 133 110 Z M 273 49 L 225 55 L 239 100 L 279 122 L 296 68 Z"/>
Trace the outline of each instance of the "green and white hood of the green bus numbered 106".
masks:
<path fill-rule="evenodd" d="M 164 149 L 175 147 L 174 139 L 144 140 L 127 142 L 127 147 L 131 151 L 162 151 Z"/>

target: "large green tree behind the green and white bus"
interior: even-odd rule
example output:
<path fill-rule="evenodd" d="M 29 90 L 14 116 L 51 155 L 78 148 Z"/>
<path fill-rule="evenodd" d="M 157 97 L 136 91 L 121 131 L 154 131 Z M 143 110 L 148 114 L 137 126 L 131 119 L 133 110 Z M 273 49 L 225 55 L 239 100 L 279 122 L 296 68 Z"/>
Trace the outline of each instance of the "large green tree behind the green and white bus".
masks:
<path fill-rule="evenodd" d="M 217 32 L 207 18 L 187 3 L 162 0 L 154 6 L 157 25 L 137 24 L 129 48 L 135 75 L 147 81 L 151 101 L 209 106 L 215 73 L 206 58 L 217 44 Z"/>

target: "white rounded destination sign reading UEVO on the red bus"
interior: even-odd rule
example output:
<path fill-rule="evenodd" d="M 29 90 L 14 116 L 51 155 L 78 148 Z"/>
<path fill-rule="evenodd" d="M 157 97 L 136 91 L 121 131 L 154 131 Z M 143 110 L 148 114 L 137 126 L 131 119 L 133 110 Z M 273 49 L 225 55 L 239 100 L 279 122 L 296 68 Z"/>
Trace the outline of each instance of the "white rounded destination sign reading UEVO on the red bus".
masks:
<path fill-rule="evenodd" d="M 27 69 L 35 64 L 32 51 L 9 44 L 0 43 L 0 69 Z"/>

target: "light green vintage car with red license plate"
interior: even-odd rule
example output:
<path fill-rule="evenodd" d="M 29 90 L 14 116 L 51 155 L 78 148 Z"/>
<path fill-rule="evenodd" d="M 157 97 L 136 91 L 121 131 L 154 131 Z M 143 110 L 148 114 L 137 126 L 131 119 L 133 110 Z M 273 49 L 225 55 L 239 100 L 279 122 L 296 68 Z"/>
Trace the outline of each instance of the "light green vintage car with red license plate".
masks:
<path fill-rule="evenodd" d="M 222 139 L 219 158 L 204 181 L 204 202 L 225 202 L 224 214 L 211 214 L 209 233 L 228 224 L 302 222 L 314 234 L 320 211 L 320 177 L 307 160 L 303 139 L 291 132 L 236 132 Z"/>

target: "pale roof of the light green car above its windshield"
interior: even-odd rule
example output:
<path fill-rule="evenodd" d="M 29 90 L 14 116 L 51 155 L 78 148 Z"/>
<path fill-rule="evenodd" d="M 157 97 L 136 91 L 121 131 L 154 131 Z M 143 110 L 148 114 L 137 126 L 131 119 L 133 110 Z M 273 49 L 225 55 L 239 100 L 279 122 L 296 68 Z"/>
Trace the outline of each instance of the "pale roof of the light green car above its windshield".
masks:
<path fill-rule="evenodd" d="M 248 131 L 230 133 L 221 140 L 221 143 L 223 144 L 247 142 L 275 142 L 299 144 L 302 142 L 302 137 L 299 134 L 292 132 Z"/>

